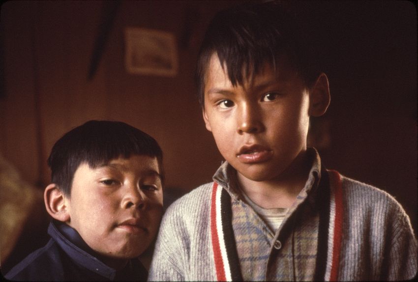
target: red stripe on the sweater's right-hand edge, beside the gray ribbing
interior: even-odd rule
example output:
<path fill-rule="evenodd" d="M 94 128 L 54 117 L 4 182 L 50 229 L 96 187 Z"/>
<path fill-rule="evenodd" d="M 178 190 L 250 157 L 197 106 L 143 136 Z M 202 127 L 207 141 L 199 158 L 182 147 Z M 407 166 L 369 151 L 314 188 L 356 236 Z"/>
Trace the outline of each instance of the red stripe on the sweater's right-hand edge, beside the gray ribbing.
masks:
<path fill-rule="evenodd" d="M 334 221 L 334 244 L 332 250 L 332 267 L 329 281 L 338 280 L 338 266 L 340 262 L 340 247 L 343 226 L 343 192 L 340 174 L 335 170 L 330 170 L 333 174 L 333 187 L 335 187 L 335 221 Z"/>

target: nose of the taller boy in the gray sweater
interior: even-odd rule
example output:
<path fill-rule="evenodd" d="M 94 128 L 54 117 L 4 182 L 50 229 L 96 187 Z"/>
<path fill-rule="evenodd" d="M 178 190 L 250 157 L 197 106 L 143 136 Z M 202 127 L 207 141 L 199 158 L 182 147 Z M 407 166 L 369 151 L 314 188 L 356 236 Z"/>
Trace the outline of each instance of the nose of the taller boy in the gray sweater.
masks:
<path fill-rule="evenodd" d="M 264 125 L 258 109 L 251 105 L 243 105 L 238 113 L 238 133 L 259 133 L 263 130 Z"/>

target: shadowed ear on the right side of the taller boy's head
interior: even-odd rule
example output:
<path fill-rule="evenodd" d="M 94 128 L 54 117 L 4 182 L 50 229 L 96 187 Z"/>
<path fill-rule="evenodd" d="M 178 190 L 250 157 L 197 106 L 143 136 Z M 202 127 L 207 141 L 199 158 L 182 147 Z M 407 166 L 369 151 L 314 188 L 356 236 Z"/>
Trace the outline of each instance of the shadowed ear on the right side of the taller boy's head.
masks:
<path fill-rule="evenodd" d="M 309 115 L 323 115 L 327 112 L 329 101 L 328 77 L 325 73 L 321 73 L 309 92 Z"/>

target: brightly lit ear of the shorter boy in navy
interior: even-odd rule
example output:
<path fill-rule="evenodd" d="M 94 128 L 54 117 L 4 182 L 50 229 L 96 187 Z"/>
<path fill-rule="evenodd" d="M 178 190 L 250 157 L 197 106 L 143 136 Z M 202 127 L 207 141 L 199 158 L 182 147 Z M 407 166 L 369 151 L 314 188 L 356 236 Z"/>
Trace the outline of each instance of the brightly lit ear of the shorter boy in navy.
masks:
<path fill-rule="evenodd" d="M 45 188 L 44 201 L 47 212 L 54 219 L 62 222 L 70 220 L 67 200 L 56 184 L 52 183 Z"/>

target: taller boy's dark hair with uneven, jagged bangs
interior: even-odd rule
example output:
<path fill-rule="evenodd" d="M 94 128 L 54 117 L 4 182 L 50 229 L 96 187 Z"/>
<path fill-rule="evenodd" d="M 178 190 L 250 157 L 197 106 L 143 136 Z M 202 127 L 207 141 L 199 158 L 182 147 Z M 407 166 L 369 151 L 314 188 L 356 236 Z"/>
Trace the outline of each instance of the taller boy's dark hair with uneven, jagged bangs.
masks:
<path fill-rule="evenodd" d="M 288 58 L 306 86 L 312 86 L 320 72 L 313 64 L 295 14 L 279 1 L 251 1 L 218 12 L 209 24 L 197 62 L 198 98 L 204 107 L 205 77 L 210 58 L 217 54 L 226 66 L 232 85 L 259 74 L 265 63 L 276 70 L 280 56 Z M 252 73 L 251 73 L 252 72 Z"/>

